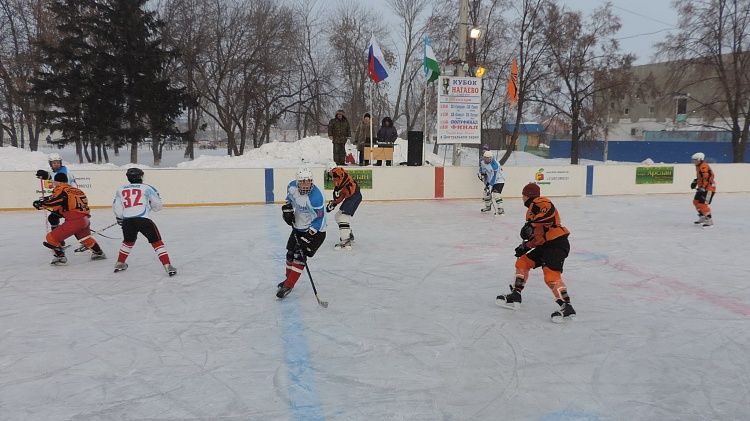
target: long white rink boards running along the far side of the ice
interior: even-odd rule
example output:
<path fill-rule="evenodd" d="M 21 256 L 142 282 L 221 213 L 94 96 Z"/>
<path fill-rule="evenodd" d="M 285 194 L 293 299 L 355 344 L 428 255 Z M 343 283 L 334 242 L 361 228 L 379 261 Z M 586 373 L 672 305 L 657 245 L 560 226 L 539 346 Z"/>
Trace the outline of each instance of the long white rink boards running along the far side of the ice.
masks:
<path fill-rule="evenodd" d="M 671 184 L 635 184 L 637 167 L 646 165 L 598 165 L 593 167 L 592 194 L 690 193 L 695 178 L 691 164 L 656 164 L 674 167 Z M 749 192 L 750 164 L 714 164 L 717 192 Z M 363 189 L 364 200 L 422 200 L 436 197 L 435 167 L 352 167 L 373 172 L 373 188 Z M 323 167 L 311 168 L 315 183 L 323 186 Z M 478 167 L 445 167 L 443 198 L 477 199 L 483 186 L 477 179 Z M 545 167 L 503 167 L 504 197 L 520 197 L 526 183 L 541 184 L 542 194 L 552 197 L 584 196 L 587 167 L 583 165 Z M 273 199 L 281 202 L 297 172 L 277 168 L 273 172 Z M 114 191 L 125 184 L 123 170 L 75 171 L 92 207 L 110 206 Z M 144 181 L 155 186 L 167 206 L 231 205 L 266 203 L 266 169 L 148 169 Z M 0 172 L 0 210 L 30 209 L 39 197 L 39 180 L 31 171 Z M 325 192 L 330 198 L 330 190 Z"/>

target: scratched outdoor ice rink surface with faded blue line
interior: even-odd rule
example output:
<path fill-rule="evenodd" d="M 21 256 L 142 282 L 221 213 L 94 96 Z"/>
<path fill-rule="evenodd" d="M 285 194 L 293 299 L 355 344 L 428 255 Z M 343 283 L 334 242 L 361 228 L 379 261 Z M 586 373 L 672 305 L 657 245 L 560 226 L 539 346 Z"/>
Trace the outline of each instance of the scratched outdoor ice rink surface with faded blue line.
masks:
<path fill-rule="evenodd" d="M 366 194 L 366 193 L 365 193 Z M 140 238 L 127 271 L 69 250 L 39 212 L 0 214 L 2 420 L 741 420 L 750 418 L 750 194 L 554 198 L 578 319 L 513 280 L 525 208 L 365 202 L 277 301 L 280 207 L 154 215 L 177 276 Z M 92 227 L 113 222 L 93 212 Z M 105 234 L 120 236 L 117 228 Z"/>

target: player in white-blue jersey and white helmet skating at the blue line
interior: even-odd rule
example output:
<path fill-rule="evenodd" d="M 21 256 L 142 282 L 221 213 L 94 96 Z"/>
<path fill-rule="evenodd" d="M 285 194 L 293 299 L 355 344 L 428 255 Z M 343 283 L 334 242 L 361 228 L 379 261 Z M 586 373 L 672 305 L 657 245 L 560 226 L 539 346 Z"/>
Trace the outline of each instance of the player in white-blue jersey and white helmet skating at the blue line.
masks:
<path fill-rule="evenodd" d="M 281 211 L 292 233 L 286 242 L 286 279 L 277 285 L 278 298 L 289 295 L 305 270 L 307 259 L 315 255 L 326 238 L 325 201 L 323 193 L 313 184 L 309 169 L 297 171 L 296 179 L 287 187 Z"/>

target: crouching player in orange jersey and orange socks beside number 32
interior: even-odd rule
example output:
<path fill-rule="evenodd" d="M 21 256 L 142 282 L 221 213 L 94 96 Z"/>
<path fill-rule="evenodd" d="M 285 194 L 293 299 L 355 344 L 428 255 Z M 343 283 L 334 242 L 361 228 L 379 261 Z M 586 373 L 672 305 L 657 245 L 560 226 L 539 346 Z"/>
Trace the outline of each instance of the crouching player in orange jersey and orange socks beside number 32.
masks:
<path fill-rule="evenodd" d="M 59 266 L 68 263 L 62 243 L 71 235 L 75 235 L 81 244 L 91 249 L 91 260 L 105 259 L 106 256 L 101 247 L 91 236 L 89 224 L 91 214 L 86 195 L 81 190 L 68 184 L 68 177 L 64 173 L 55 174 L 54 180 L 56 185 L 52 195 L 35 200 L 33 203 L 36 209 L 44 208 L 65 218 L 65 222 L 47 233 L 47 238 L 42 243 L 55 253 L 55 258 L 50 264 Z"/>

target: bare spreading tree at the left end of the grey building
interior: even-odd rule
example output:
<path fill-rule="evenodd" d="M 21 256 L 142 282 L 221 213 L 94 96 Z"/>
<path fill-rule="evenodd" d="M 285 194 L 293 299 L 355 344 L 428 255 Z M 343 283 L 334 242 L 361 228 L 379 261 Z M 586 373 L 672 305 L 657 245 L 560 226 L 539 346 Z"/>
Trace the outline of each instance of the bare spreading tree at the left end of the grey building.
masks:
<path fill-rule="evenodd" d="M 570 120 L 570 163 L 576 165 L 579 141 L 594 128 L 595 121 L 589 119 L 594 98 L 601 92 L 628 86 L 634 56 L 620 54 L 612 38 L 620 29 L 620 20 L 613 15 L 611 4 L 595 10 L 586 22 L 580 11 L 549 3 L 545 22 L 553 73 L 544 93 L 530 100 L 547 104 Z"/>

